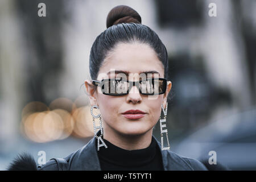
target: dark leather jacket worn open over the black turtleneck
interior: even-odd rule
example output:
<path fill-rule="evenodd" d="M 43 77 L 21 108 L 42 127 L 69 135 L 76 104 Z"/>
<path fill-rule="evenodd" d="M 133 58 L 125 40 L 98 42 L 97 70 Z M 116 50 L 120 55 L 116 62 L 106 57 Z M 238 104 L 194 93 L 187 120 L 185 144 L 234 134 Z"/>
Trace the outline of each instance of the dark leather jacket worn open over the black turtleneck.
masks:
<path fill-rule="evenodd" d="M 153 136 L 152 139 L 156 140 Z M 160 143 L 158 147 L 160 148 Z M 96 150 L 96 138 L 93 137 L 84 147 L 68 155 L 64 159 L 67 160 L 68 170 L 71 171 L 99 171 L 101 170 L 100 161 L 98 159 L 97 150 Z M 207 170 L 203 163 L 199 162 L 196 159 L 185 158 L 183 156 L 175 154 L 171 150 L 161 150 L 163 167 L 165 171 L 170 170 Z M 56 171 L 58 166 L 55 160 L 48 160 L 46 164 L 39 165 L 38 170 L 44 171 Z"/>

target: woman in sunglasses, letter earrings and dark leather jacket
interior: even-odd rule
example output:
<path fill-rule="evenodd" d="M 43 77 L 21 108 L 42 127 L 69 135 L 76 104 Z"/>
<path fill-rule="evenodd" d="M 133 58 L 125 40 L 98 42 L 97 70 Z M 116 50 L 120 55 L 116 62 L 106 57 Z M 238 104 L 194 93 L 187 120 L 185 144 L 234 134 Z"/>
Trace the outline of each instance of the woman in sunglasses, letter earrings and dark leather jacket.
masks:
<path fill-rule="evenodd" d="M 199 161 L 170 151 L 166 114 L 172 83 L 166 80 L 167 51 L 158 35 L 128 6 L 114 7 L 106 25 L 90 51 L 92 80 L 85 81 L 94 137 L 38 170 L 206 170 Z M 161 143 L 152 136 L 160 117 Z"/>

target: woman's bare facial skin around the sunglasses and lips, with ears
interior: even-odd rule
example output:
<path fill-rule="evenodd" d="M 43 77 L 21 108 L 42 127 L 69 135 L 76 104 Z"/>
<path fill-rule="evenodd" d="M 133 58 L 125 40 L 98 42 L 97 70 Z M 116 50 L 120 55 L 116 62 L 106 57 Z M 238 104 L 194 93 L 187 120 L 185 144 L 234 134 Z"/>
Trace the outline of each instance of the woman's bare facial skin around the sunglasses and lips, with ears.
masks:
<path fill-rule="evenodd" d="M 164 77 L 164 68 L 159 61 L 154 49 L 143 43 L 119 43 L 104 60 L 98 73 L 98 81 L 102 80 L 102 75 L 106 75 L 110 70 L 115 71 L 115 75 L 108 74 L 108 78 L 117 76 L 117 71 L 134 73 L 127 75 L 130 81 L 138 81 L 139 74 L 152 72 L 152 77 Z M 154 72 L 158 72 L 154 74 Z M 136 74 L 137 73 L 137 74 Z M 146 74 L 147 75 L 147 74 Z M 86 86 L 89 89 L 89 86 Z M 108 96 L 100 92 L 100 86 L 96 92 L 90 92 L 91 105 L 100 107 L 101 118 L 103 119 L 104 130 L 111 130 L 122 135 L 142 135 L 152 130 L 158 122 L 161 106 L 165 107 L 168 92 L 171 89 L 171 82 L 167 82 L 166 93 L 157 96 L 146 96 L 139 93 L 136 86 L 124 96 Z M 92 91 L 92 90 L 91 90 Z M 142 118 L 130 119 L 122 114 L 127 110 L 141 110 L 144 114 Z"/>

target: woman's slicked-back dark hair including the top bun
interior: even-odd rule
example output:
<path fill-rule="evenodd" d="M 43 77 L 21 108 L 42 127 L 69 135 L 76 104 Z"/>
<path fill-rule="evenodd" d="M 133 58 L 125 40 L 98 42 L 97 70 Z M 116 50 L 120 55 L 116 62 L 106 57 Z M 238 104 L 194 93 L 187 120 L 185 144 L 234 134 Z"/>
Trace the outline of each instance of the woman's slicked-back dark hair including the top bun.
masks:
<path fill-rule="evenodd" d="M 168 55 L 166 47 L 151 28 L 141 24 L 141 16 L 129 6 L 116 6 L 108 14 L 107 29 L 97 36 L 90 50 L 90 77 L 97 79 L 101 65 L 118 43 L 148 44 L 164 67 L 164 78 L 168 78 Z"/>

